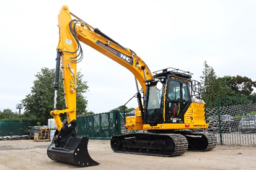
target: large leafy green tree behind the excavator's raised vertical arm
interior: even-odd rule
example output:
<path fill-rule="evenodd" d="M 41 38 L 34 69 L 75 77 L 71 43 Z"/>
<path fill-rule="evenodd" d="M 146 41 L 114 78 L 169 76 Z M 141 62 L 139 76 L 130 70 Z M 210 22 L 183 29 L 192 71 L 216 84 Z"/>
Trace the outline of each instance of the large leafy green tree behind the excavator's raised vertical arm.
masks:
<path fill-rule="evenodd" d="M 42 121 L 52 118 L 50 111 L 53 110 L 55 69 L 42 68 L 41 72 L 35 75 L 37 78 L 33 82 L 31 93 L 22 100 L 25 106 L 26 114 L 33 114 Z M 57 109 L 65 109 L 64 91 L 63 91 L 63 75 L 60 74 L 60 83 L 58 90 Z M 82 80 L 82 75 L 77 72 L 77 114 L 86 112 L 87 100 L 82 93 L 87 91 L 86 82 Z M 61 115 L 61 117 L 65 117 Z"/>

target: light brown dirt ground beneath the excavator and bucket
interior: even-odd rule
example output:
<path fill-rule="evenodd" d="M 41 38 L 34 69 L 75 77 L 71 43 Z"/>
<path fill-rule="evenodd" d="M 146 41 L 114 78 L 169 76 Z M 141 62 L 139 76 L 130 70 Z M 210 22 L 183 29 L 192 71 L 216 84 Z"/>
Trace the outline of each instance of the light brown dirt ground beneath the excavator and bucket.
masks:
<path fill-rule="evenodd" d="M 52 161 L 46 150 L 50 142 L 0 141 L 0 169 L 77 169 Z M 256 169 L 256 147 L 218 145 L 208 152 L 187 151 L 182 156 L 158 157 L 114 153 L 110 141 L 89 140 L 90 157 L 100 164 L 84 169 Z"/>

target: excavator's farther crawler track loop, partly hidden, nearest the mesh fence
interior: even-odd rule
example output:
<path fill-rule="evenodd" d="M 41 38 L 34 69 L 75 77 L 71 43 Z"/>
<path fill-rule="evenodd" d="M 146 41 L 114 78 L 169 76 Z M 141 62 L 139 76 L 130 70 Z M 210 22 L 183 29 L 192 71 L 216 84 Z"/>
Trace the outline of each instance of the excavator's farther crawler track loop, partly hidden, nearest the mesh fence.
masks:
<path fill-rule="evenodd" d="M 190 150 L 188 148 L 188 151 L 210 151 L 210 150 L 213 150 L 217 145 L 217 138 L 215 137 L 214 134 L 209 134 L 207 132 L 188 132 L 188 131 L 183 131 L 180 134 L 185 136 L 188 135 L 190 137 L 205 136 L 207 140 L 206 142 L 208 143 L 208 145 L 204 150 Z"/>

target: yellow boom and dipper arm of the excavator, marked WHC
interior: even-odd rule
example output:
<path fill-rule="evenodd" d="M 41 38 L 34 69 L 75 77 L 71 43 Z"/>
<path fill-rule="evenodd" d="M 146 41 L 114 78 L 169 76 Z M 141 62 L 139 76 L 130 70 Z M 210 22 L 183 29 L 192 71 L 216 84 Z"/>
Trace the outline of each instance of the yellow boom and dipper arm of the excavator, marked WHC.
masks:
<path fill-rule="evenodd" d="M 76 51 L 77 43 L 74 36 L 69 30 L 69 22 L 73 20 L 68 6 L 63 6 L 58 14 L 58 26 L 60 27 L 60 39 L 57 49 L 62 51 L 61 53 L 61 65 L 63 67 L 64 78 L 64 93 L 66 99 L 66 108 L 64 110 L 51 111 L 51 115 L 55 118 L 55 122 L 58 126 L 58 130 L 61 129 L 62 124 L 59 114 L 67 113 L 68 122 L 76 119 L 76 63 L 73 63 L 77 53 L 66 53 L 65 51 Z M 148 66 L 143 60 L 131 53 L 130 49 L 122 48 L 121 46 L 107 40 L 103 36 L 94 32 L 94 28 L 89 24 L 79 20 L 80 24 L 76 25 L 76 33 L 79 41 L 94 48 L 105 56 L 109 57 L 113 61 L 121 64 L 121 66 L 132 72 L 136 79 L 138 79 L 143 91 L 146 91 L 146 84 L 144 82 L 144 72 L 142 66 L 145 66 L 146 79 L 154 79 Z M 107 66 L 106 66 L 107 67 Z"/>

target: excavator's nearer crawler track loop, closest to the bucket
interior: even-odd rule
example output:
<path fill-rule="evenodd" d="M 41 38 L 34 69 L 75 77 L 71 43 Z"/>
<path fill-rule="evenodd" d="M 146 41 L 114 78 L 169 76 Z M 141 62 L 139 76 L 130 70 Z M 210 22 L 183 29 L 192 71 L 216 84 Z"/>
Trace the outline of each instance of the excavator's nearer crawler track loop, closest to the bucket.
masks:
<path fill-rule="evenodd" d="M 158 137 L 166 137 L 166 138 L 172 138 L 173 142 L 174 142 L 174 151 L 172 151 L 169 154 L 166 153 L 162 153 L 162 151 L 155 151 L 155 150 L 142 150 L 142 149 L 138 149 L 138 148 L 117 148 L 115 146 L 115 143 L 117 141 L 116 138 L 120 138 L 121 140 L 125 140 L 125 138 L 131 138 L 131 137 L 139 137 L 139 135 L 148 135 L 151 138 L 155 138 L 156 140 L 158 140 Z M 111 147 L 112 150 L 118 153 L 130 153 L 130 154 L 136 154 L 136 155 L 150 155 L 150 156 L 166 156 L 166 157 L 170 157 L 170 156 L 179 156 L 179 155 L 183 155 L 183 153 L 185 153 L 188 149 L 188 142 L 187 142 L 187 138 L 185 138 L 183 135 L 180 134 L 128 134 L 128 135 L 116 135 L 114 137 L 112 137 L 111 140 Z"/>

